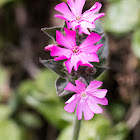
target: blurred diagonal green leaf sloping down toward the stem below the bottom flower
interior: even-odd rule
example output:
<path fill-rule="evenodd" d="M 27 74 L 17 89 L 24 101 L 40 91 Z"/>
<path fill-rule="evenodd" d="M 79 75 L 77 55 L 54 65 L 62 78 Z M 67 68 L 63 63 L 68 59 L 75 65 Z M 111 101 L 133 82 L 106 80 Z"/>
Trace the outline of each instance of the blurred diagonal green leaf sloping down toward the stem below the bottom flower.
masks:
<path fill-rule="evenodd" d="M 58 129 L 65 128 L 73 119 L 73 114 L 64 110 L 64 102 L 61 100 L 48 99 L 41 102 L 34 96 L 27 96 L 25 102 Z"/>

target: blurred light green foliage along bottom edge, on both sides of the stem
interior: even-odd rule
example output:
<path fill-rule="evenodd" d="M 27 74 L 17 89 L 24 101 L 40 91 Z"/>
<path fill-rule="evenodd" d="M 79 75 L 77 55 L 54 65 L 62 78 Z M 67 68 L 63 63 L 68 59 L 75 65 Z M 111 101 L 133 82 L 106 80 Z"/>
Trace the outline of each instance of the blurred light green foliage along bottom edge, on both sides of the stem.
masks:
<path fill-rule="evenodd" d="M 72 125 L 65 128 L 57 140 L 71 140 Z M 82 121 L 79 140 L 124 140 L 129 130 L 125 123 L 112 127 L 110 121 L 101 115 L 94 116 L 90 121 Z"/>

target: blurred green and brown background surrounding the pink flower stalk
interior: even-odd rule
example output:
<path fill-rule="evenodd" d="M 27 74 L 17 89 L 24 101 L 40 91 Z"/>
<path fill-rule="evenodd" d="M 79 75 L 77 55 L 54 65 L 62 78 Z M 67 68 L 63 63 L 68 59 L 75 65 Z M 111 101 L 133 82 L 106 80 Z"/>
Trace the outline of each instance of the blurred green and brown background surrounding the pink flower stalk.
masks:
<path fill-rule="evenodd" d="M 40 29 L 63 26 L 66 0 L 0 0 L 0 140 L 71 140 L 74 113 L 55 91 L 58 77 L 39 63 L 53 43 Z M 82 121 L 79 140 L 140 140 L 140 0 L 97 0 L 108 36 L 104 113 Z M 87 0 L 84 10 L 95 0 Z"/>

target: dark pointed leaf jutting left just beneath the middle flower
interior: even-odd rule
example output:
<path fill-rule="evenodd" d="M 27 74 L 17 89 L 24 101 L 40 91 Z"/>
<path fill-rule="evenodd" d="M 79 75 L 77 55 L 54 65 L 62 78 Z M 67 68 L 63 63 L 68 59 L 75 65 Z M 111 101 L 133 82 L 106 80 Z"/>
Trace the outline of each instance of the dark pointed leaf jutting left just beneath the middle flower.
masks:
<path fill-rule="evenodd" d="M 55 73 L 60 75 L 61 77 L 67 77 L 67 71 L 64 67 L 64 61 L 54 61 L 53 59 L 49 60 L 39 60 L 45 67 L 53 70 Z"/>

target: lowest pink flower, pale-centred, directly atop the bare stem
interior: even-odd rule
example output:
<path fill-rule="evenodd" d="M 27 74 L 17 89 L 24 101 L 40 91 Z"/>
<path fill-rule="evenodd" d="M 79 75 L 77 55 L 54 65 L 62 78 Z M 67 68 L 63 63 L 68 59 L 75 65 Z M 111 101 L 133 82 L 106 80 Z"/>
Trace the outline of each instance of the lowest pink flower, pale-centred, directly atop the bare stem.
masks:
<path fill-rule="evenodd" d="M 107 105 L 108 100 L 105 98 L 107 93 L 106 89 L 97 89 L 102 85 L 100 81 L 91 81 L 87 88 L 85 84 L 80 81 L 75 81 L 76 86 L 68 83 L 65 90 L 76 92 L 67 102 L 64 109 L 72 113 L 74 112 L 76 106 L 76 113 L 78 120 L 82 119 L 82 112 L 85 120 L 90 120 L 93 118 L 94 113 L 102 113 L 102 108 L 98 105 Z M 78 104 L 78 105 L 77 105 Z"/>

